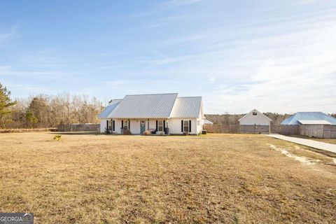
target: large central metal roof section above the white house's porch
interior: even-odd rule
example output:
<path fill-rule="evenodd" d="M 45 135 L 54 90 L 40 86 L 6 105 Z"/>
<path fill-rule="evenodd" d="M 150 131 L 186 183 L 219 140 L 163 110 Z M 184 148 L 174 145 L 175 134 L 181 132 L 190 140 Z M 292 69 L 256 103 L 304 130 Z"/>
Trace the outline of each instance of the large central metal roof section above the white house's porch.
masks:
<path fill-rule="evenodd" d="M 126 95 L 109 118 L 169 118 L 177 93 Z"/>

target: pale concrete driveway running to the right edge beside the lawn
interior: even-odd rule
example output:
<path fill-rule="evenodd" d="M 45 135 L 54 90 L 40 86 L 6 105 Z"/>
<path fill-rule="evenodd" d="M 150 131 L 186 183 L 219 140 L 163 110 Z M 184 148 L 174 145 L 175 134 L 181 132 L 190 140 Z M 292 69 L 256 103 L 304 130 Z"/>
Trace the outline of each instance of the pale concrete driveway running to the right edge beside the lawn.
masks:
<path fill-rule="evenodd" d="M 336 153 L 336 145 L 335 144 L 329 144 L 321 141 L 314 141 L 310 139 L 300 139 L 295 137 L 287 137 L 282 134 L 267 134 L 269 137 L 273 137 L 276 139 L 281 139 L 285 141 L 290 141 L 296 144 L 300 144 L 302 146 L 309 146 L 311 148 L 317 148 L 324 151 L 329 151 L 331 153 Z"/>

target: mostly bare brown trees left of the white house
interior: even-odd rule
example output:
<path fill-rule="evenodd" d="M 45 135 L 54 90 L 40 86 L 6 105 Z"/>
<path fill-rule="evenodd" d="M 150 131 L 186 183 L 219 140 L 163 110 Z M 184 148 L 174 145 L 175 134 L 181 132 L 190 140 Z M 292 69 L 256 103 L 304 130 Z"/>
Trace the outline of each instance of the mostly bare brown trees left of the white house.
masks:
<path fill-rule="evenodd" d="M 98 123 L 104 107 L 95 97 L 62 93 L 10 99 L 0 83 L 0 128 L 45 128 L 59 124 Z"/>

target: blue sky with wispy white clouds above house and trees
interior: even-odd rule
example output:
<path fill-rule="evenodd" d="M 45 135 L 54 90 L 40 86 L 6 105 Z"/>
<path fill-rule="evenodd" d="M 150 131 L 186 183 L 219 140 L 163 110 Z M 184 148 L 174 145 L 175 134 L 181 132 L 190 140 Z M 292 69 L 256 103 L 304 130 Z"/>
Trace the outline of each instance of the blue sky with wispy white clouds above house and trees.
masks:
<path fill-rule="evenodd" d="M 336 1 L 0 0 L 13 98 L 202 96 L 206 113 L 336 113 Z"/>

